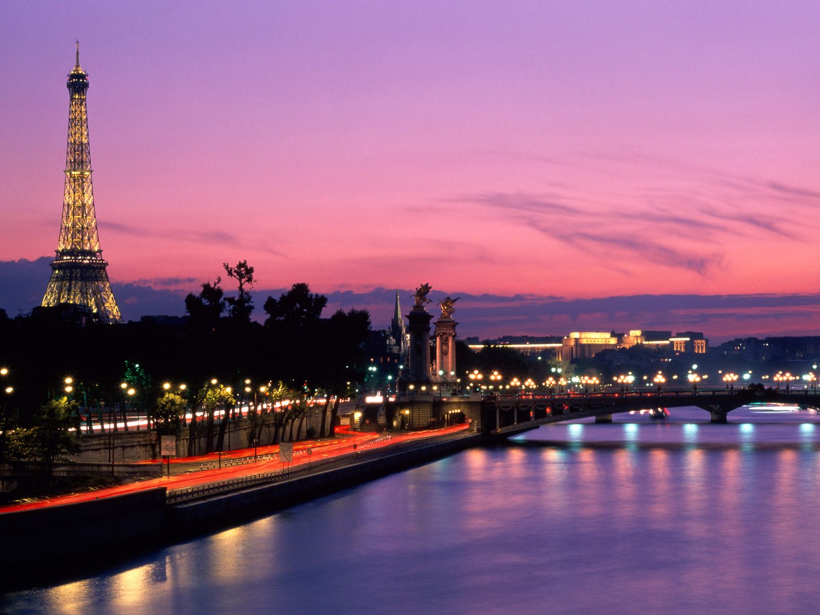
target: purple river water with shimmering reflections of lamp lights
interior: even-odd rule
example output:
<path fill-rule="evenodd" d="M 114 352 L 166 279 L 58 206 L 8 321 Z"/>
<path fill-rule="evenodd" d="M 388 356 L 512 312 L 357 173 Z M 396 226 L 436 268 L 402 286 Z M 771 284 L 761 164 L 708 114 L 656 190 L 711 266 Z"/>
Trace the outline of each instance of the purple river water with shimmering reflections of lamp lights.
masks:
<path fill-rule="evenodd" d="M 0 609 L 818 613 L 820 417 L 729 417 L 544 426 Z"/>

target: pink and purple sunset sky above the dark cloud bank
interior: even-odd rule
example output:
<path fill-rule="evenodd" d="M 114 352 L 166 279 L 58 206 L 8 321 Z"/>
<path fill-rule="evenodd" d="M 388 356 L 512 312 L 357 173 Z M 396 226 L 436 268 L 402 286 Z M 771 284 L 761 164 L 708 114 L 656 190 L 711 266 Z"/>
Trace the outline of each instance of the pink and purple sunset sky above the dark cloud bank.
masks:
<path fill-rule="evenodd" d="M 818 2 L 3 2 L 0 260 L 57 245 L 77 38 L 117 282 L 817 292 L 818 31 Z"/>

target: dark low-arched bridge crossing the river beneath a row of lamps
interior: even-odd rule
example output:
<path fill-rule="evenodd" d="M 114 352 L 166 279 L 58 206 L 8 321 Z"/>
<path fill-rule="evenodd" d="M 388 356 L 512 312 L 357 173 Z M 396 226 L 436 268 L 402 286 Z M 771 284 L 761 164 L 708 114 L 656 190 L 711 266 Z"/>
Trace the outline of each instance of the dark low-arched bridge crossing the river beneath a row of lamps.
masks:
<path fill-rule="evenodd" d="M 787 403 L 820 407 L 816 390 L 785 391 L 749 388 L 712 391 L 640 391 L 634 393 L 570 393 L 485 399 L 481 408 L 481 426 L 492 436 L 509 437 L 541 425 L 579 418 L 594 417 L 595 422 L 612 422 L 613 414 L 648 408 L 681 408 L 695 406 L 709 412 L 713 423 L 727 422 L 732 410 L 749 403 Z"/>

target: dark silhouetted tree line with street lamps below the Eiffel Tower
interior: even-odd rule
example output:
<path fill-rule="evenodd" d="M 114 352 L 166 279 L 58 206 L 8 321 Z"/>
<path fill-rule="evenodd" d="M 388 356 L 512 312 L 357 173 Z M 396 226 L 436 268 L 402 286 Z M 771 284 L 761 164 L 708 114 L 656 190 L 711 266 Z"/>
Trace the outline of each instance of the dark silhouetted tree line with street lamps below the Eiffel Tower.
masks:
<path fill-rule="evenodd" d="M 206 435 L 211 452 L 221 450 L 225 435 L 227 421 L 217 418 L 219 409 L 235 418 L 239 405 L 253 407 L 249 440 L 262 444 L 266 427 L 276 441 L 293 439 L 308 408 L 316 409 L 322 399 L 317 435 L 333 435 L 339 399 L 365 376 L 367 310 L 337 310 L 324 317 L 327 298 L 298 283 L 267 298 L 266 318 L 254 321 L 253 266 L 224 263 L 223 271 L 233 289 L 225 288 L 221 276 L 203 283 L 198 293 L 185 297 L 185 319 L 170 322 L 144 317 L 121 325 L 78 326 L 64 320 L 59 308 L 14 318 L 0 311 L 0 368 L 6 372 L 0 372 L 0 385 L 7 391 L 0 393 L 0 462 L 53 462 L 75 451 L 70 434 L 80 433 L 80 421 L 97 422 L 99 430 L 113 417 L 116 426 L 125 408 L 147 416 L 160 434 L 187 429 L 190 435 Z M 48 418 L 46 408 L 54 404 L 60 421 Z M 202 418 L 194 413 L 186 421 L 186 408 L 197 408 Z M 69 434 L 56 448 L 48 449 L 26 431 L 43 421 Z"/>

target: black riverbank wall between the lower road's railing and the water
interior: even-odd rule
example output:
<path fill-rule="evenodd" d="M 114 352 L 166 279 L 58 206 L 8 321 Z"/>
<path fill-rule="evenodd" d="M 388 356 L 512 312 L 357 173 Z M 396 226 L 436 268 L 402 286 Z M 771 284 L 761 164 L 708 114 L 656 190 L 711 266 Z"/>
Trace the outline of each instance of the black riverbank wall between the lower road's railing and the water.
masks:
<path fill-rule="evenodd" d="M 421 440 L 340 467 L 169 504 L 166 488 L 0 514 L 0 591 L 87 578 L 166 544 L 221 531 L 484 442 L 481 434 Z M 406 445 L 404 445 L 406 446 Z"/>

